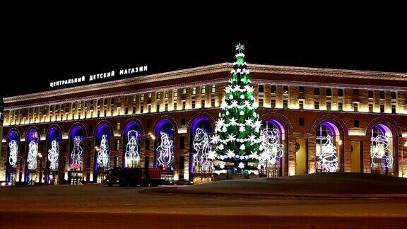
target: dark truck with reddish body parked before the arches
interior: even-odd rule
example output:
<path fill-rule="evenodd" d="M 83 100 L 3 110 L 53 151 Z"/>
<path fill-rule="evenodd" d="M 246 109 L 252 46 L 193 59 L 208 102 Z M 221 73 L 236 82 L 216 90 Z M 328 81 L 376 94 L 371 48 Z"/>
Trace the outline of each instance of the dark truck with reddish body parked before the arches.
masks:
<path fill-rule="evenodd" d="M 161 180 L 160 169 L 155 168 L 114 168 L 109 170 L 106 182 L 112 187 L 119 184 L 122 187 L 158 186 Z"/>

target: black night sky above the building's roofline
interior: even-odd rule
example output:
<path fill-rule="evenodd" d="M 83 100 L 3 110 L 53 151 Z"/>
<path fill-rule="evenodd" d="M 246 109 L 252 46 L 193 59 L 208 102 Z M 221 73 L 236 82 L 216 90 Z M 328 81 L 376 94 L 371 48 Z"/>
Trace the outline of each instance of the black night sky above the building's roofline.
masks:
<path fill-rule="evenodd" d="M 407 72 L 405 26 L 397 16 L 344 18 L 326 12 L 295 20 L 287 15 L 242 19 L 237 26 L 236 20 L 189 20 L 191 14 L 114 22 L 72 17 L 57 23 L 43 16 L 8 25 L 0 97 L 141 64 L 153 74 L 232 62 L 237 42 L 247 47 L 249 63 Z M 11 79 L 18 83 L 6 83 Z"/>

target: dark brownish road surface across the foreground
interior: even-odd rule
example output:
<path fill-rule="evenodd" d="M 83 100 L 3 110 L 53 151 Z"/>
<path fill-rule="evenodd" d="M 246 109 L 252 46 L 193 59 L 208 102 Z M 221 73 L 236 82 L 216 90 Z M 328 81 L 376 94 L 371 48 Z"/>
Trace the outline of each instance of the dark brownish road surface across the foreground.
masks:
<path fill-rule="evenodd" d="M 1 228 L 407 228 L 403 198 L 182 196 L 141 190 L 1 187 Z"/>

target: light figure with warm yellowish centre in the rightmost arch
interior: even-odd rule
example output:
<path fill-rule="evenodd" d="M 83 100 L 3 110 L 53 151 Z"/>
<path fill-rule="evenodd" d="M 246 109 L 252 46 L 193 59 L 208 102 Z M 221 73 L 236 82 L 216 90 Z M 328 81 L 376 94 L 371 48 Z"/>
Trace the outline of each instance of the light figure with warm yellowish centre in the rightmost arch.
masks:
<path fill-rule="evenodd" d="M 379 134 L 376 137 L 370 139 L 372 143 L 372 150 L 370 151 L 370 157 L 372 158 L 372 167 L 377 167 L 377 163 L 374 159 L 384 159 L 386 160 L 387 168 L 393 168 L 393 153 L 389 148 L 390 138 L 389 136 Z"/>

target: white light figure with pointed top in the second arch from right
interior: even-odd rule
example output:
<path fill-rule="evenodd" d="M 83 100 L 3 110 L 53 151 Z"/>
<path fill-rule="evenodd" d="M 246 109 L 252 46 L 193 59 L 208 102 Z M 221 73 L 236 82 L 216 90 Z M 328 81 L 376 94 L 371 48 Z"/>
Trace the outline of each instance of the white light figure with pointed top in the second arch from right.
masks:
<path fill-rule="evenodd" d="M 326 143 L 317 144 L 317 169 L 322 172 L 336 172 L 338 170 L 336 146 L 329 134 L 326 136 Z"/>

